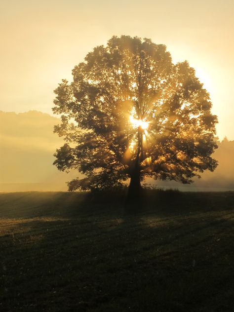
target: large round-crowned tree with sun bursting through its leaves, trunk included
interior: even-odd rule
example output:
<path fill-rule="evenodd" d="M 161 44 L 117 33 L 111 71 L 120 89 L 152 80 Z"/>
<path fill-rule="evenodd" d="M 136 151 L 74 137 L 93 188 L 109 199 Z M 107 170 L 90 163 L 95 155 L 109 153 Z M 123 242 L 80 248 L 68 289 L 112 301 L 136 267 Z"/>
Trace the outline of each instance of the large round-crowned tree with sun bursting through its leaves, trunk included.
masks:
<path fill-rule="evenodd" d="M 97 46 L 54 91 L 55 132 L 66 143 L 59 170 L 85 175 L 69 190 L 108 189 L 130 178 L 138 198 L 144 177 L 191 183 L 217 161 L 209 93 L 188 62 L 174 65 L 166 46 L 151 39 L 112 37 Z"/>

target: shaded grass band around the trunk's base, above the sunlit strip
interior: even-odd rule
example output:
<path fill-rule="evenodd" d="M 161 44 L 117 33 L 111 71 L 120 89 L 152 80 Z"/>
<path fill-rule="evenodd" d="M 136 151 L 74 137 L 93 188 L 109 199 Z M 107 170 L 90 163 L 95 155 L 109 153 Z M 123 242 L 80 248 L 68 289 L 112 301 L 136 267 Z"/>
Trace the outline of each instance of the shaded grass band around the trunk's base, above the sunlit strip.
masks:
<path fill-rule="evenodd" d="M 144 190 L 141 204 L 125 205 L 126 190 L 109 192 L 19 192 L 0 194 L 0 218 L 79 217 L 107 214 L 175 214 L 232 209 L 234 192 Z"/>

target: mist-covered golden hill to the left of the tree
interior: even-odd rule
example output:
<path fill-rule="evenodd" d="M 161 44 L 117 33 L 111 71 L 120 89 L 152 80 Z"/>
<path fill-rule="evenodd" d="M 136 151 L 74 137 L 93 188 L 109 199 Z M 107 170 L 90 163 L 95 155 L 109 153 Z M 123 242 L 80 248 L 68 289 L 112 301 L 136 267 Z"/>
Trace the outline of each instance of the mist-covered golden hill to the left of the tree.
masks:
<path fill-rule="evenodd" d="M 52 165 L 53 153 L 63 144 L 53 133 L 58 123 L 37 111 L 0 112 L 1 191 L 67 190 L 71 178 Z"/>

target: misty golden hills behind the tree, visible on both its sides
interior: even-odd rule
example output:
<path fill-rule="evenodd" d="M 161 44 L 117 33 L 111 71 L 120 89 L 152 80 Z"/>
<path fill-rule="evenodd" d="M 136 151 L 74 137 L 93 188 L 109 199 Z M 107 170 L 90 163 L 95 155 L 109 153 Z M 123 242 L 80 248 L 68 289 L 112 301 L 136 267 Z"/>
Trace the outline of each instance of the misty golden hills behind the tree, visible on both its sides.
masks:
<path fill-rule="evenodd" d="M 56 148 L 63 140 L 53 133 L 60 119 L 37 111 L 27 113 L 0 112 L 0 191 L 66 191 L 66 182 L 78 173 L 64 173 L 52 165 Z M 214 157 L 219 166 L 204 172 L 191 185 L 174 181 L 147 180 L 159 187 L 181 190 L 234 190 L 234 141 L 219 143 Z"/>

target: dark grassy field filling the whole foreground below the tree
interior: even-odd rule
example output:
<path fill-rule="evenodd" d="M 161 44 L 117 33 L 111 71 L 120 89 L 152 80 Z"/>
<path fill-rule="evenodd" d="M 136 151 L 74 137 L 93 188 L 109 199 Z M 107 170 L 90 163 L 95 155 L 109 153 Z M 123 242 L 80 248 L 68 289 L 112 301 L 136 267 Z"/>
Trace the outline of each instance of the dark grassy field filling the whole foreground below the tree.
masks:
<path fill-rule="evenodd" d="M 234 311 L 234 193 L 147 192 L 0 194 L 0 311 Z"/>

